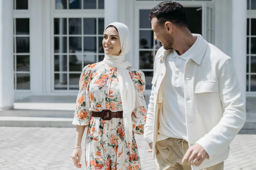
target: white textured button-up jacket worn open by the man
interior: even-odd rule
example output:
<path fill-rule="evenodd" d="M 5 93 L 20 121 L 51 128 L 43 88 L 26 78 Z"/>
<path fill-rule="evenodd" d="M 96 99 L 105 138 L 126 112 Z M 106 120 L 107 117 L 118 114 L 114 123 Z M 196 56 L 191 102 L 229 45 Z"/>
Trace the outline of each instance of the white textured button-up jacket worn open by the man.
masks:
<path fill-rule="evenodd" d="M 161 47 L 156 53 L 153 86 L 144 126 L 145 140 L 153 142 L 154 159 L 164 93 L 160 84 L 165 76 L 165 59 L 169 52 Z M 193 167 L 193 170 L 199 170 L 228 158 L 229 144 L 246 120 L 245 101 L 231 58 L 201 35 L 193 57 L 185 64 L 184 82 L 189 147 L 198 143 L 209 155 L 209 160 L 206 159 L 199 167 Z"/>

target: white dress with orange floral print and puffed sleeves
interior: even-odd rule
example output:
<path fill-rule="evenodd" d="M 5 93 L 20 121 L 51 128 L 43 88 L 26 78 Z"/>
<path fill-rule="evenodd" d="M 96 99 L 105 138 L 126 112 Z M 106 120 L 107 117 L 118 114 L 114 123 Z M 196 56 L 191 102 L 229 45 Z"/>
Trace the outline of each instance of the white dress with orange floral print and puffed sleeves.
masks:
<path fill-rule="evenodd" d="M 145 77 L 140 70 L 127 68 L 134 82 L 136 101 L 131 113 L 133 132 L 143 134 L 146 123 Z M 120 118 L 102 120 L 92 117 L 91 111 L 110 109 L 122 111 L 117 68 L 104 62 L 83 68 L 77 106 L 72 124 L 88 126 L 85 140 L 85 165 L 87 170 L 141 170 L 137 144 L 133 134 L 132 146 L 124 139 L 123 122 Z M 131 149 L 130 149 L 131 148 Z"/>

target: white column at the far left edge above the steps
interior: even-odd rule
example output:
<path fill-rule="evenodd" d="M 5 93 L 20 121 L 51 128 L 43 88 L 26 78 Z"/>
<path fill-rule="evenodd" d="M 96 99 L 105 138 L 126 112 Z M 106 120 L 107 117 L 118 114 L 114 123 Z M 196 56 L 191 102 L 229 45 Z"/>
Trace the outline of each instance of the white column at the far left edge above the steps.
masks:
<path fill-rule="evenodd" d="M 13 0 L 0 0 L 0 110 L 13 108 Z"/>

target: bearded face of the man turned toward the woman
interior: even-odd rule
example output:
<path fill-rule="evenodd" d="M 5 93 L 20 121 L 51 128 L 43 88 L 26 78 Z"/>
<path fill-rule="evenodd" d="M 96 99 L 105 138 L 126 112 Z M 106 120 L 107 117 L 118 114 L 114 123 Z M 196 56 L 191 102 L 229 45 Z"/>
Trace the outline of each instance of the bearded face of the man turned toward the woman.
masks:
<path fill-rule="evenodd" d="M 154 39 L 159 40 L 164 46 L 165 50 L 170 50 L 173 47 L 173 36 L 168 32 L 168 27 L 164 24 L 159 25 L 157 18 L 154 17 L 151 20 L 151 28 L 154 31 Z"/>

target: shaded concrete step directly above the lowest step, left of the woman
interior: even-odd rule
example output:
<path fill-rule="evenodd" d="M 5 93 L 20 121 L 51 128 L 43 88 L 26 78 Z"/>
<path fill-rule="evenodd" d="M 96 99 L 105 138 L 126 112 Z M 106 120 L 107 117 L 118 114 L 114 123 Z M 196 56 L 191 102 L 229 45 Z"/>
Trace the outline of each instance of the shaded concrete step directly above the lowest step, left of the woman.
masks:
<path fill-rule="evenodd" d="M 0 111 L 0 116 L 73 118 L 74 111 L 14 109 L 14 110 Z"/>

